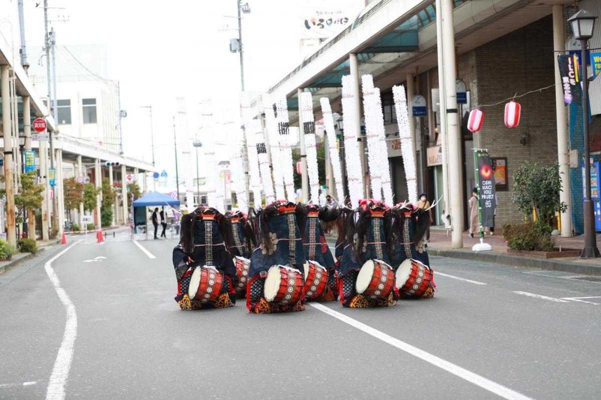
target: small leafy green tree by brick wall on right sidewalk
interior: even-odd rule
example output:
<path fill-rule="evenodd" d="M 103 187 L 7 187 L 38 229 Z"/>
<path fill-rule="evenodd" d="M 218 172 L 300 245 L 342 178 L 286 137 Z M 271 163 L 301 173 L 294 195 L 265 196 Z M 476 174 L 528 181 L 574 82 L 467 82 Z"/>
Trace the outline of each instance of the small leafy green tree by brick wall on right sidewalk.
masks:
<path fill-rule="evenodd" d="M 511 199 L 520 212 L 528 217 L 533 207 L 543 231 L 551 232 L 555 211 L 566 211 L 567 205 L 560 201 L 561 175 L 559 164 L 540 166 L 538 163 L 523 162 L 513 175 L 514 189 Z"/>

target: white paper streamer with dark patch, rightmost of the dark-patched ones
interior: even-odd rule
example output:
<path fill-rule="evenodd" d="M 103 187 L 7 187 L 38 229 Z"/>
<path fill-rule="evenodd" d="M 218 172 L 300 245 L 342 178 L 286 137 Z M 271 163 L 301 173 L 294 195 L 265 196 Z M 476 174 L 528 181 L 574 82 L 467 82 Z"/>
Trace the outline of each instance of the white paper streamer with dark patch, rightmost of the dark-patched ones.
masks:
<path fill-rule="evenodd" d="M 302 113 L 305 135 L 305 151 L 307 152 L 307 172 L 309 175 L 310 201 L 319 204 L 319 172 L 317 171 L 317 147 L 315 138 L 315 120 L 313 117 L 313 96 L 310 92 L 302 92 L 299 98 L 299 110 Z"/>

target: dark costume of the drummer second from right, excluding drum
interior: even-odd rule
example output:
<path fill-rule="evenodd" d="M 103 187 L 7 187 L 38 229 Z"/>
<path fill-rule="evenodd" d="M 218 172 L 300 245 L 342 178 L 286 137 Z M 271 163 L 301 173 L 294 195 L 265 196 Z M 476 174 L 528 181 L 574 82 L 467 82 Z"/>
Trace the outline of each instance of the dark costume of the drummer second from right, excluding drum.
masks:
<path fill-rule="evenodd" d="M 385 300 L 373 300 L 356 291 L 356 280 L 362 265 L 370 259 L 379 259 L 389 264 L 388 250 L 386 249 L 385 233 L 385 205 L 373 201 L 363 202 L 355 213 L 359 218 L 355 226 L 349 226 L 352 231 L 353 243 L 347 240 L 344 244 L 342 261 L 340 264 L 340 302 L 343 307 L 368 308 L 392 307 L 396 304 L 394 292 L 390 292 Z M 354 218 L 351 217 L 351 218 Z M 352 224 L 349 220 L 349 224 Z M 349 235 L 347 235 L 349 237 Z"/>

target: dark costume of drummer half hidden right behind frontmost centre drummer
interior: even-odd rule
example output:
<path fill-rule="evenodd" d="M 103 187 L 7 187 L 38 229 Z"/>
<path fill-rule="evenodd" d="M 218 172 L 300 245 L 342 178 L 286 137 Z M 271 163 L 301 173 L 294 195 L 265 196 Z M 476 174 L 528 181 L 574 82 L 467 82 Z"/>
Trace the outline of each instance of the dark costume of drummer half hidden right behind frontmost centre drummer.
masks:
<path fill-rule="evenodd" d="M 328 243 L 322 232 L 320 225 L 320 210 L 317 205 L 310 204 L 307 206 L 307 220 L 305 222 L 305 232 L 303 235 L 303 247 L 305 249 L 305 257 L 310 261 L 316 261 L 322 267 L 328 270 L 328 283 L 323 294 L 317 298 L 318 302 L 327 302 L 336 300 L 338 297 L 338 289 L 336 282 L 336 269 L 334 257 L 328 247 Z M 323 210 L 324 213 L 329 211 Z"/>

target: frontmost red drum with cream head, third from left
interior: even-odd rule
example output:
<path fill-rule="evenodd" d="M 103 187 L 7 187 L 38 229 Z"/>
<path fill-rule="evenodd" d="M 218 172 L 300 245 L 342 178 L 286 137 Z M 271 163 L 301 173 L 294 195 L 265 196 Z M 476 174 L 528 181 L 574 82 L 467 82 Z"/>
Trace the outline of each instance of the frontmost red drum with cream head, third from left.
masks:
<path fill-rule="evenodd" d="M 293 305 L 301 300 L 304 283 L 301 271 L 284 265 L 273 265 L 267 271 L 263 293 L 270 303 Z"/>

